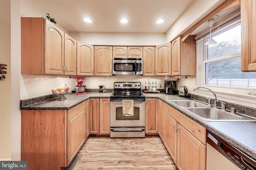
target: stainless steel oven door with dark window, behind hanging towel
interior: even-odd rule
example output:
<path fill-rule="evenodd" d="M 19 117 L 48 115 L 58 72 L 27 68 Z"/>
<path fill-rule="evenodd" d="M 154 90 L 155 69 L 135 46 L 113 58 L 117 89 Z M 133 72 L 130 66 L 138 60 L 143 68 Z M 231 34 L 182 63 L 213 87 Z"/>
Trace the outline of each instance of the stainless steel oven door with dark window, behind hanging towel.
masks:
<path fill-rule="evenodd" d="M 122 101 L 110 102 L 110 127 L 145 127 L 145 101 L 134 101 L 134 115 L 123 116 Z"/>

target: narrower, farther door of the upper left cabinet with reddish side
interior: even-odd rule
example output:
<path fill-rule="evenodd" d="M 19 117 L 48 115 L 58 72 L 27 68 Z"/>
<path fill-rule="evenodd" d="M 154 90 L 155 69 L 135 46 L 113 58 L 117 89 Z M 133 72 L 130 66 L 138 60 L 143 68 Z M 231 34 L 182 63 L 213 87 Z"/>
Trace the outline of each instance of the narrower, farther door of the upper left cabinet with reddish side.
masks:
<path fill-rule="evenodd" d="M 65 33 L 64 64 L 65 75 L 76 75 L 76 40 Z"/>

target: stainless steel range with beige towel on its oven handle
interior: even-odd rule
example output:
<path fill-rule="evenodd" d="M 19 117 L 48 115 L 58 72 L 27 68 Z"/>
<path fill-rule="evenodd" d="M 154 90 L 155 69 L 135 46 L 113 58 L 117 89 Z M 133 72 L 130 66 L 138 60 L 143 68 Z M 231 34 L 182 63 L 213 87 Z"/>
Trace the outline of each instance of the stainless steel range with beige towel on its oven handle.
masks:
<path fill-rule="evenodd" d="M 140 82 L 114 82 L 114 93 L 110 96 L 110 137 L 145 137 L 145 117 L 145 96 Z"/>

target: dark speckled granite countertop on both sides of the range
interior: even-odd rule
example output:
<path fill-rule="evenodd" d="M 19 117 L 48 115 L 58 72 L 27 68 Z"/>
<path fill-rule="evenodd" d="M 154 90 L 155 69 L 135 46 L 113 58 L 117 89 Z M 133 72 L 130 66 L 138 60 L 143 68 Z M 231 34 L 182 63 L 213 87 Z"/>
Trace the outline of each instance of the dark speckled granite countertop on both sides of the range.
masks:
<path fill-rule="evenodd" d="M 53 98 L 47 101 L 39 102 L 36 104 L 29 104 L 25 106 L 21 101 L 21 110 L 35 110 L 35 109 L 61 109 L 68 110 L 72 107 L 90 99 L 90 98 L 110 98 L 112 92 L 98 93 L 92 92 L 80 95 L 66 95 L 67 100 L 57 100 Z M 186 115 L 193 121 L 202 125 L 209 131 L 215 133 L 218 137 L 221 137 L 225 141 L 234 145 L 238 149 L 242 150 L 246 154 L 252 156 L 256 159 L 256 121 L 224 121 L 224 122 L 206 122 L 196 115 L 193 115 L 185 108 L 179 107 L 177 105 L 168 102 L 168 100 L 186 100 L 186 98 L 180 98 L 178 95 L 168 95 L 168 94 L 144 94 L 146 98 L 158 98 L 164 101 L 169 106 L 180 111 L 182 114 Z M 26 100 L 25 100 L 26 101 Z"/>

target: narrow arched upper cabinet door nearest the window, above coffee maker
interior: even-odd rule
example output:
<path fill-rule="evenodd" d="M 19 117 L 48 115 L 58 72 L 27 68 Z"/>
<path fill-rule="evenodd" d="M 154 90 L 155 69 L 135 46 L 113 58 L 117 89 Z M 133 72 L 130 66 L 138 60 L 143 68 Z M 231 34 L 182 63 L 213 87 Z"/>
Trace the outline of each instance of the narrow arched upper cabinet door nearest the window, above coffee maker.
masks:
<path fill-rule="evenodd" d="M 180 37 L 172 41 L 172 76 L 180 75 Z"/>

